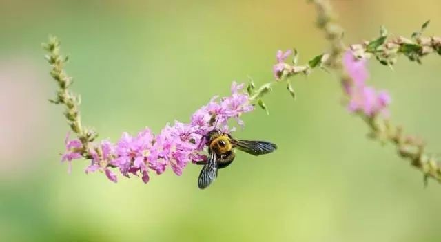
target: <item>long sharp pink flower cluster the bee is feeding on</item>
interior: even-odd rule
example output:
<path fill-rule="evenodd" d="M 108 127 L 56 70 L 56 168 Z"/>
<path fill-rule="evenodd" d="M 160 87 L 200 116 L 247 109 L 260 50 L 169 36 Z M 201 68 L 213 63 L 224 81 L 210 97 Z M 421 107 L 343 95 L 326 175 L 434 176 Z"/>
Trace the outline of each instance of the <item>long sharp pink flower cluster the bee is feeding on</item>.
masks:
<path fill-rule="evenodd" d="M 212 129 L 229 130 L 228 120 L 234 118 L 243 126 L 240 115 L 252 111 L 249 96 L 243 91 L 244 84 L 232 84 L 232 95 L 218 99 L 212 98 L 209 103 L 198 109 L 189 124 L 175 121 L 173 126 L 167 124 L 158 135 L 146 128 L 136 136 L 123 133 L 121 139 L 112 144 L 104 140 L 93 144 L 88 151 L 81 153 L 79 140 L 66 138 L 66 152 L 61 157 L 63 162 L 73 159 L 92 157 L 91 164 L 85 173 L 97 170 L 105 173 L 110 181 L 117 181 L 112 168 L 119 169 L 126 177 L 135 175 L 147 183 L 149 172 L 161 174 L 170 166 L 176 175 L 181 175 L 189 162 L 205 160 L 203 155 L 205 135 Z"/>

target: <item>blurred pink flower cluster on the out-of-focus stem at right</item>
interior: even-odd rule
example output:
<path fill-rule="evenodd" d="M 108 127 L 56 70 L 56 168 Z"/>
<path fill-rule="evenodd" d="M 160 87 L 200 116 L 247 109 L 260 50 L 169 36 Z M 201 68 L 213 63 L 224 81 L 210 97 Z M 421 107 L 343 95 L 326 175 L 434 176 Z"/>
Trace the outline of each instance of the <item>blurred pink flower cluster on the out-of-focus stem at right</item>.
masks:
<path fill-rule="evenodd" d="M 365 115 L 373 117 L 378 114 L 389 115 L 387 107 L 391 97 L 385 90 L 376 91 L 365 84 L 369 77 L 366 69 L 366 59 L 358 59 L 348 50 L 343 56 L 343 65 L 347 74 L 352 78 L 352 85 L 347 85 L 345 91 L 350 97 L 348 109 L 351 112 L 362 111 Z"/>

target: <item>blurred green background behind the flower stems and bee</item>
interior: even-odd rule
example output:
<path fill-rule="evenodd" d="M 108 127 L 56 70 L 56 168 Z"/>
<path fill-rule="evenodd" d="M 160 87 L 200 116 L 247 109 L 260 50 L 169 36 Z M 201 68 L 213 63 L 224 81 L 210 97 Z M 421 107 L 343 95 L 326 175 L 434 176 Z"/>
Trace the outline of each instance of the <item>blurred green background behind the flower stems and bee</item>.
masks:
<path fill-rule="evenodd" d="M 347 43 L 384 24 L 409 36 L 427 19 L 441 35 L 438 0 L 335 0 Z M 441 186 L 341 105 L 333 75 L 295 80 L 296 102 L 276 87 L 271 115 L 243 117 L 236 137 L 271 140 L 276 153 L 240 153 L 207 190 L 200 167 L 170 170 L 145 185 L 60 164 L 68 126 L 50 105 L 55 83 L 40 43 L 59 36 L 81 94 L 83 122 L 101 138 L 189 121 L 232 80 L 271 80 L 278 49 L 300 62 L 326 50 L 304 0 L 0 1 L 0 241 L 441 241 Z M 439 56 L 400 58 L 395 72 L 369 63 L 389 89 L 393 120 L 441 152 Z"/>

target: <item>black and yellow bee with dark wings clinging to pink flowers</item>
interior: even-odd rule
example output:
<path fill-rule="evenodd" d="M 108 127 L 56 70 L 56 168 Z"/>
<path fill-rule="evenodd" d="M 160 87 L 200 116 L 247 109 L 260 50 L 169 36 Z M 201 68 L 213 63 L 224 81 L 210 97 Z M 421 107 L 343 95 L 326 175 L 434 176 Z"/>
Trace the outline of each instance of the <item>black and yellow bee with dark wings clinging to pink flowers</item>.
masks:
<path fill-rule="evenodd" d="M 236 157 L 235 148 L 251 155 L 264 155 L 276 150 L 276 144 L 266 141 L 236 140 L 229 133 L 218 129 L 210 131 L 205 136 L 208 146 L 207 161 L 196 162 L 203 165 L 198 178 L 198 187 L 207 188 L 218 176 L 218 169 L 232 164 Z"/>

